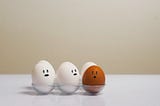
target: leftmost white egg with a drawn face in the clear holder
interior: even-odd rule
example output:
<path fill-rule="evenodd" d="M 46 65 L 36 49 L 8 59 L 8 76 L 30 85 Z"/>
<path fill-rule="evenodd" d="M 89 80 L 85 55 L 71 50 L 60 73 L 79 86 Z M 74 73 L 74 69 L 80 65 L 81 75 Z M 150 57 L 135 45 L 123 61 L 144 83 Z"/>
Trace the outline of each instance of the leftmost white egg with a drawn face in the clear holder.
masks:
<path fill-rule="evenodd" d="M 32 71 L 32 86 L 39 94 L 48 94 L 54 88 L 55 70 L 46 60 L 39 61 Z"/>

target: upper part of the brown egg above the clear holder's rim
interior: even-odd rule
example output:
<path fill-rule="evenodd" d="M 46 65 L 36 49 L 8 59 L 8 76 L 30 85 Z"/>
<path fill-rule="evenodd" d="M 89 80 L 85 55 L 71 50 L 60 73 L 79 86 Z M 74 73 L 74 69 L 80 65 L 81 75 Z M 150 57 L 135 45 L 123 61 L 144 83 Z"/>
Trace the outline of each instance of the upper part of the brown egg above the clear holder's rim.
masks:
<path fill-rule="evenodd" d="M 91 66 L 84 72 L 82 80 L 85 85 L 104 85 L 105 74 L 99 66 Z"/>

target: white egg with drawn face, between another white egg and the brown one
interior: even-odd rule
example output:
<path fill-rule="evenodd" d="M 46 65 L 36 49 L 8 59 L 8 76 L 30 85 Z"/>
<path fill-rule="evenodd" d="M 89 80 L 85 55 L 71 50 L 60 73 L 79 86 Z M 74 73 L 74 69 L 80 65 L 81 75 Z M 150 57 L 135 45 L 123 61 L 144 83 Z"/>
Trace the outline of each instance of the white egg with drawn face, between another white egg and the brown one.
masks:
<path fill-rule="evenodd" d="M 57 84 L 62 93 L 72 94 L 79 88 L 80 74 L 77 67 L 71 62 L 63 62 L 58 70 Z"/>

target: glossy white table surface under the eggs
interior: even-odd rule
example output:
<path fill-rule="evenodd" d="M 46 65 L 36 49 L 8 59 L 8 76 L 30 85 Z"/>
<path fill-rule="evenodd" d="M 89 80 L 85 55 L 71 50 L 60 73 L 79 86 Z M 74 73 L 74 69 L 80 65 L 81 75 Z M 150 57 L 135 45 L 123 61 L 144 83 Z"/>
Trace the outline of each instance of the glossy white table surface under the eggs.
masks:
<path fill-rule="evenodd" d="M 97 96 L 37 95 L 30 75 L 0 75 L 0 106 L 160 106 L 160 75 L 108 75 Z"/>

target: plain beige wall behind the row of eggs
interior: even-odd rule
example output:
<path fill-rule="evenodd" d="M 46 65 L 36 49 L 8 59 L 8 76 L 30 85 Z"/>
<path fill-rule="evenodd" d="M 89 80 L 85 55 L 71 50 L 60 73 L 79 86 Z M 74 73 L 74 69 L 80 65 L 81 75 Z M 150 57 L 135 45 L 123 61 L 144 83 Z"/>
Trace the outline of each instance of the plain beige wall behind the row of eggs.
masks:
<path fill-rule="evenodd" d="M 160 0 L 0 0 L 0 73 L 41 59 L 160 74 Z"/>

